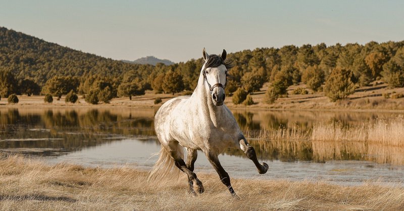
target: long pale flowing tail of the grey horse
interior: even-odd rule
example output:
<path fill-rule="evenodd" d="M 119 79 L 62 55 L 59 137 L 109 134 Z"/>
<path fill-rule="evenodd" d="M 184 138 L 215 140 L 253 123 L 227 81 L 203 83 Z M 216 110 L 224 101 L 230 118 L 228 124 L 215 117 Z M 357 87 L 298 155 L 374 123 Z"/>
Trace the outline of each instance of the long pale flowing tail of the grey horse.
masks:
<path fill-rule="evenodd" d="M 184 148 L 180 145 L 177 147 L 177 155 L 182 159 L 184 158 Z M 159 160 L 155 163 L 150 170 L 147 182 L 151 181 L 164 181 L 167 179 L 178 179 L 181 171 L 174 164 L 174 159 L 167 153 L 166 149 L 162 146 Z"/>

